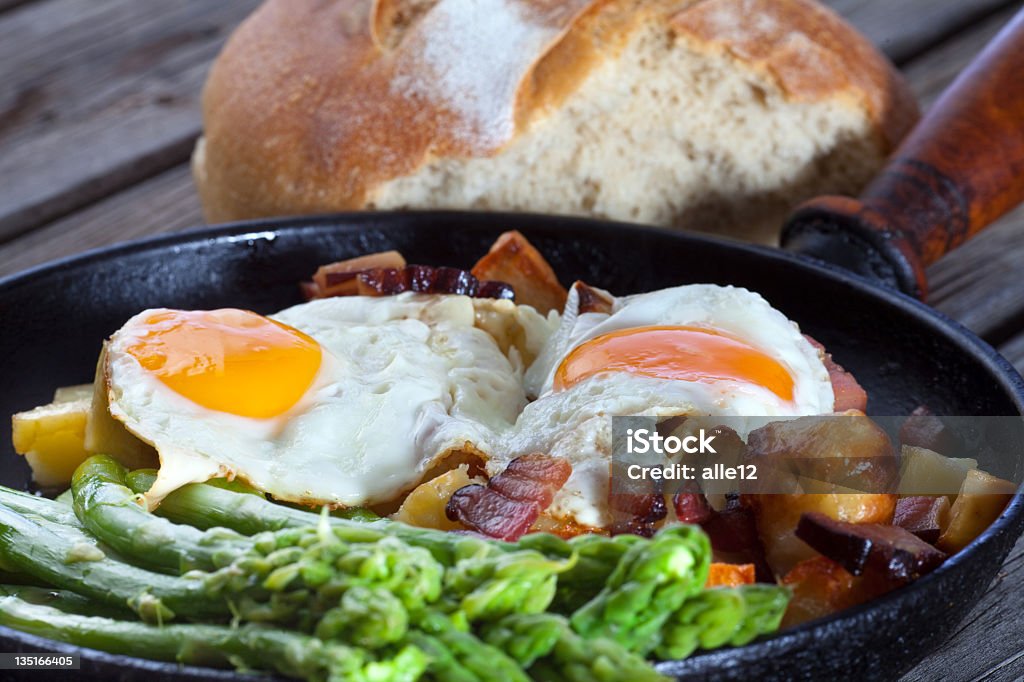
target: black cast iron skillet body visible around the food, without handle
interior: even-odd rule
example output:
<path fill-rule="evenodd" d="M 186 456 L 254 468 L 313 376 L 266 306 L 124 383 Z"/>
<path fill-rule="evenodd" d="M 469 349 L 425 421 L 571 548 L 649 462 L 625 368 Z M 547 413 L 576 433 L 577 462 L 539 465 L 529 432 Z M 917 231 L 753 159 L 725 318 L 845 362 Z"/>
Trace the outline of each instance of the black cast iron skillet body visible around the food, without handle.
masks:
<path fill-rule="evenodd" d="M 470 266 L 503 230 L 521 229 L 566 282 L 616 293 L 716 282 L 761 292 L 850 369 L 880 415 L 927 402 L 950 415 L 1018 415 L 1024 380 L 991 348 L 923 304 L 838 268 L 778 250 L 654 228 L 512 214 L 348 214 L 228 225 L 96 252 L 0 283 L 0 415 L 89 381 L 100 341 L 145 307 L 241 306 L 271 312 L 299 302 L 296 283 L 319 263 L 384 249 L 413 262 Z M 25 486 L 2 421 L 2 482 Z M 885 677 L 937 646 L 988 586 L 1024 526 L 1024 501 L 974 545 L 910 587 L 838 617 L 748 647 L 666 666 L 680 676 Z M 1010 624 L 1008 624 L 1009 626 Z M 0 650 L 74 647 L 0 629 Z M 143 670 L 168 679 L 206 671 L 83 651 L 97 679 Z"/>

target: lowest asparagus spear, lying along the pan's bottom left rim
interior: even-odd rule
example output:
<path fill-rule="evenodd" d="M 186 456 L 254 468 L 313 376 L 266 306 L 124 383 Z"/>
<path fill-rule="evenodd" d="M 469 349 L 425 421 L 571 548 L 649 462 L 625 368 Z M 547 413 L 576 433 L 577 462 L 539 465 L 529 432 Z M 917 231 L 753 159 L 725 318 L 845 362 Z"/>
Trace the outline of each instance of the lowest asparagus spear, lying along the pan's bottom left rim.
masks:
<path fill-rule="evenodd" d="M 13 596 L 0 597 L 0 625 L 112 653 L 199 666 L 272 670 L 306 680 L 412 681 L 419 679 L 427 666 L 426 655 L 414 647 L 400 649 L 389 660 L 373 660 L 358 649 L 284 630 L 253 625 L 154 627 L 68 613 Z"/>

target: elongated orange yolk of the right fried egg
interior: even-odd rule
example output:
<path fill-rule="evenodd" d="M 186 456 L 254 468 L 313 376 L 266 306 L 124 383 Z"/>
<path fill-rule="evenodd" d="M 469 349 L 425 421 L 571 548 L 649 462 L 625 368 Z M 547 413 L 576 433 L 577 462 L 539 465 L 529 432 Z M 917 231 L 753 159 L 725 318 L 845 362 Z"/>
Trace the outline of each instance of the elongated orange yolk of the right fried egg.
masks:
<path fill-rule="evenodd" d="M 591 339 L 562 360 L 555 373 L 555 390 L 602 372 L 676 381 L 737 381 L 793 399 L 793 377 L 778 360 L 712 329 L 637 327 Z"/>

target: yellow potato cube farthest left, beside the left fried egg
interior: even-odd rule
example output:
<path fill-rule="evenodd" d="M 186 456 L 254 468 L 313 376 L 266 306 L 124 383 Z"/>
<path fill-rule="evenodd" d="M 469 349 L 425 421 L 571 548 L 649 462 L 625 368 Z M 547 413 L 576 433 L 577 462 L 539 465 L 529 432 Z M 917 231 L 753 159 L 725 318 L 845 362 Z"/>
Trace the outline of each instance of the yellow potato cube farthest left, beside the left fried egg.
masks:
<path fill-rule="evenodd" d="M 91 396 L 65 399 L 11 418 L 14 452 L 25 456 L 33 480 L 40 485 L 70 484 L 75 469 L 89 456 L 85 424 L 91 402 Z"/>

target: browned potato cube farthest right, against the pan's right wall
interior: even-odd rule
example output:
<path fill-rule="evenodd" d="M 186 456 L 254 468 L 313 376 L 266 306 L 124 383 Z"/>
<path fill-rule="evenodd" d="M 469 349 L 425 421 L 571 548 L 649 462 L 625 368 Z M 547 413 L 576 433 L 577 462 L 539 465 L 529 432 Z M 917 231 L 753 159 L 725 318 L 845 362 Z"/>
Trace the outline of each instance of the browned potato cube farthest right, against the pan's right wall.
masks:
<path fill-rule="evenodd" d="M 952 554 L 982 534 L 1010 503 L 1017 486 L 980 469 L 971 469 L 949 510 L 949 525 L 939 536 L 939 549 Z"/>

